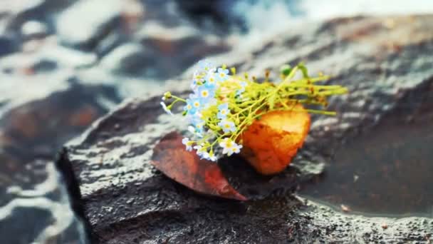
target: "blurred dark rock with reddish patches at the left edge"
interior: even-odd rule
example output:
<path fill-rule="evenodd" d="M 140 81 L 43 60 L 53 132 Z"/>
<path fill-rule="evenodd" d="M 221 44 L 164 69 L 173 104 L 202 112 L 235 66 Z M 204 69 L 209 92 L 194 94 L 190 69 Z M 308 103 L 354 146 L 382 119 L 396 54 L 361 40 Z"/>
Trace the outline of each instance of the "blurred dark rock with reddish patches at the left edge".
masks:
<path fill-rule="evenodd" d="M 115 91 L 108 87 L 75 84 L 66 91 L 53 92 L 22 105 L 12 104 L 1 111 L 0 158 L 4 162 L 1 172 L 14 172 L 12 176 L 4 176 L 6 181 L 14 183 L 14 188 L 9 187 L 9 190 L 31 188 L 45 181 L 45 163 L 53 158 L 58 147 L 106 111 L 107 108 L 91 96 L 94 89 L 100 92 L 100 98 L 118 99 Z M 80 102 L 71 103 L 76 98 L 80 98 Z M 0 184 L 0 187 L 4 189 L 6 185 Z M 1 202 L 11 200 L 9 197 L 13 197 L 14 192 L 16 190 L 11 190 L 12 195 L 9 195 L 8 190 L 2 191 Z"/>

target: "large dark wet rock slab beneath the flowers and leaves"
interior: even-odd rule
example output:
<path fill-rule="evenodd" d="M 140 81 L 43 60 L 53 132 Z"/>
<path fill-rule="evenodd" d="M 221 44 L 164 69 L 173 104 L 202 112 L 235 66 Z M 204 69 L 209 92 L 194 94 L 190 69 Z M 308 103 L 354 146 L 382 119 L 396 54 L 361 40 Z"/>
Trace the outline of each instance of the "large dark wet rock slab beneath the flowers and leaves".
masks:
<path fill-rule="evenodd" d="M 392 21 L 390 28 L 389 18 L 336 19 L 276 36 L 255 47 L 254 59 L 251 50 L 242 54 L 236 49 L 219 57 L 256 73 L 305 60 L 312 73 L 331 73 L 350 90 L 330 101 L 338 116 L 313 116 L 296 167 L 264 177 L 241 158 L 219 162 L 231 185 L 250 199 L 246 203 L 199 195 L 152 168 L 155 143 L 169 131 L 184 131 L 180 116 L 162 114 L 157 96 L 126 101 L 63 150 L 57 166 L 68 179 L 75 211 L 100 243 L 425 240 L 425 233 L 433 231 L 424 224 L 429 218 L 345 214 L 293 195 L 308 182 L 320 183 L 315 176 L 323 174 L 323 163 L 330 163 L 328 157 L 346 139 L 393 116 L 431 110 L 433 16 Z M 187 80 L 174 84 L 173 90 L 187 90 Z M 386 230 L 383 223 L 388 223 Z M 414 233 L 413 228 L 423 231 Z"/>

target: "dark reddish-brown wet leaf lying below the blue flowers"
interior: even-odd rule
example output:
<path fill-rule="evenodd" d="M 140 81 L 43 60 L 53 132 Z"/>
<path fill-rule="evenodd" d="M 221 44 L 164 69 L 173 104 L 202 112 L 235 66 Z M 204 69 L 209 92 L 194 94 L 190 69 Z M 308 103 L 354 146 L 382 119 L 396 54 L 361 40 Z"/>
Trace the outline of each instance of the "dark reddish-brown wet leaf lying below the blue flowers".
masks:
<path fill-rule="evenodd" d="M 218 164 L 201 160 L 195 151 L 187 151 L 177 132 L 168 133 L 155 146 L 152 164 L 169 178 L 199 193 L 247 200 L 229 185 Z"/>

